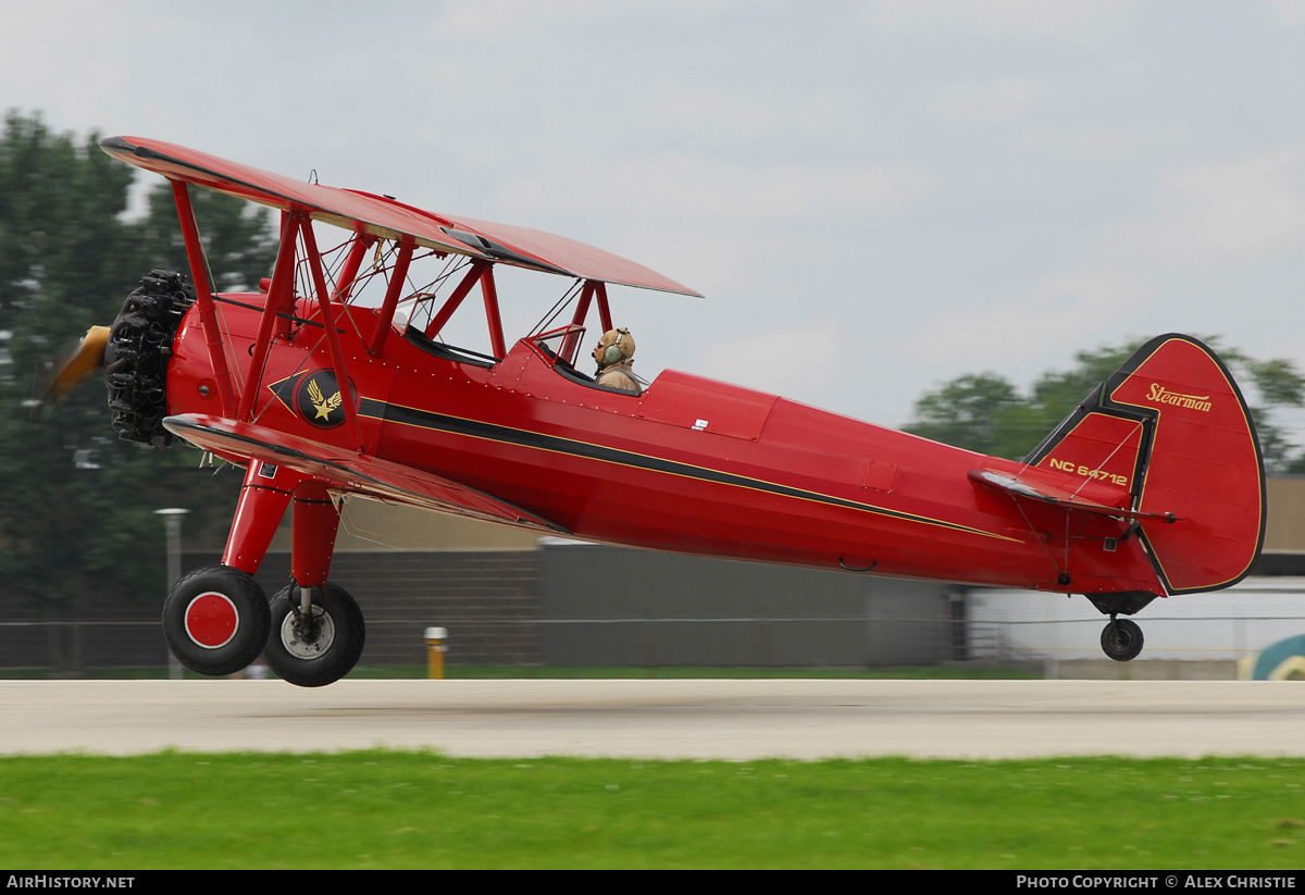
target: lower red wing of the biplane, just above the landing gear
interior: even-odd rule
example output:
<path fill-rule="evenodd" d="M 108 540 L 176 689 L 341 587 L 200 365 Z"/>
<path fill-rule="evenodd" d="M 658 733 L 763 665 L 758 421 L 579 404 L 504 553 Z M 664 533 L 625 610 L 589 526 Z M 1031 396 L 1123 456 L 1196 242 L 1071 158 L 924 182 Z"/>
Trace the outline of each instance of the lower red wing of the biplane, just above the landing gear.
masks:
<path fill-rule="evenodd" d="M 218 416 L 181 414 L 163 425 L 193 445 L 287 466 L 328 481 L 328 488 L 440 513 L 506 522 L 549 534 L 570 534 L 534 513 L 466 485 L 402 463 L 342 451 L 308 438 Z"/>

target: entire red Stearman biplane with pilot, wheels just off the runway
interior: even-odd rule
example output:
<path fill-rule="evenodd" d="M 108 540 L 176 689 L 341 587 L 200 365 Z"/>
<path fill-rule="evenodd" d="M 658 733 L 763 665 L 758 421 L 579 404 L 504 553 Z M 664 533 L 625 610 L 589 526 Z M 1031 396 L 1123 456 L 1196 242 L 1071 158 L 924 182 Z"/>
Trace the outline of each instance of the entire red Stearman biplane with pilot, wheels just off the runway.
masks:
<path fill-rule="evenodd" d="M 168 646 L 198 672 L 264 651 L 304 686 L 352 668 L 363 616 L 329 581 L 350 496 L 612 544 L 1084 594 L 1121 661 L 1142 633 L 1118 616 L 1228 587 L 1259 553 L 1254 425 L 1224 364 L 1185 335 L 1148 342 L 1011 462 L 686 373 L 641 394 L 598 385 L 577 354 L 595 308 L 612 329 L 608 284 L 697 294 L 589 245 L 153 140 L 100 145 L 171 181 L 191 264 L 189 281 L 145 277 L 85 343 L 103 348 L 114 428 L 247 468 L 222 564 L 164 603 Z M 214 291 L 191 185 L 281 210 L 258 292 Z M 343 241 L 318 248 L 315 222 Z M 423 261 L 440 270 L 414 279 Z M 505 341 L 500 266 L 565 278 L 569 322 Z M 441 338 L 475 288 L 488 354 Z M 294 579 L 269 603 L 253 574 L 287 506 Z"/>

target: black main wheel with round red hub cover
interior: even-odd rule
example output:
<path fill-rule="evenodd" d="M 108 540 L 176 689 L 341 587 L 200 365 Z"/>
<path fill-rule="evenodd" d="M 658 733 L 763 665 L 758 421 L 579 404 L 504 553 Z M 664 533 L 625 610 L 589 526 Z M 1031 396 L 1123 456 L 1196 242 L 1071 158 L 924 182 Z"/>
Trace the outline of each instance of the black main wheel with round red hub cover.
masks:
<path fill-rule="evenodd" d="M 201 675 L 234 675 L 262 652 L 270 625 L 268 595 L 239 569 L 205 566 L 163 600 L 163 637 L 183 665 Z"/>

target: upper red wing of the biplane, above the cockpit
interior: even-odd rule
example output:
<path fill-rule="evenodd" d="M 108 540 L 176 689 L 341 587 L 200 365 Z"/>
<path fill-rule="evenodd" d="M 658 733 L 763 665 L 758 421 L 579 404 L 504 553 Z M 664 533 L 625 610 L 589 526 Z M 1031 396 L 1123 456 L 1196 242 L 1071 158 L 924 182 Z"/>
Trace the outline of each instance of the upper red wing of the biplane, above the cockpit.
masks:
<path fill-rule="evenodd" d="M 121 162 L 170 180 L 240 196 L 275 209 L 301 209 L 315 220 L 346 230 L 361 230 L 382 239 L 407 236 L 418 245 L 440 252 L 701 297 L 698 292 L 643 265 L 565 236 L 433 214 L 384 196 L 308 184 L 158 140 L 108 137 L 99 146 Z"/>

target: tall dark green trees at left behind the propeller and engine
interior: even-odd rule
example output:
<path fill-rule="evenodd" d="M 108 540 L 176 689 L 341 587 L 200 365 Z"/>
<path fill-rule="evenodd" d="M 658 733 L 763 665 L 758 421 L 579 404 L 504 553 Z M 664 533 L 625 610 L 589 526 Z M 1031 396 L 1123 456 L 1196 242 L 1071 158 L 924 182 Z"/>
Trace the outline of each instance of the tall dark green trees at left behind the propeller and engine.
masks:
<path fill-rule="evenodd" d="M 34 414 L 34 377 L 91 325 L 108 325 L 151 269 L 188 271 L 167 183 L 128 215 L 134 168 L 8 112 L 0 137 L 0 592 L 60 613 L 103 594 L 166 592 L 154 510 L 185 506 L 192 532 L 230 522 L 240 475 L 198 470 L 194 450 L 117 441 L 103 380 Z M 266 209 L 194 190 L 219 286 L 257 286 L 275 258 Z"/>

